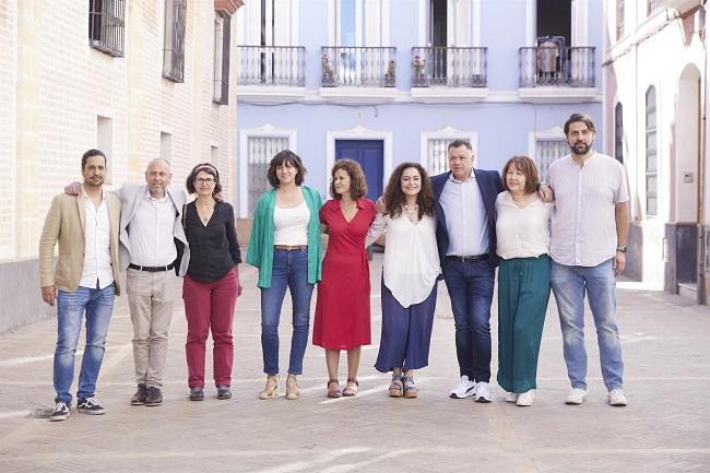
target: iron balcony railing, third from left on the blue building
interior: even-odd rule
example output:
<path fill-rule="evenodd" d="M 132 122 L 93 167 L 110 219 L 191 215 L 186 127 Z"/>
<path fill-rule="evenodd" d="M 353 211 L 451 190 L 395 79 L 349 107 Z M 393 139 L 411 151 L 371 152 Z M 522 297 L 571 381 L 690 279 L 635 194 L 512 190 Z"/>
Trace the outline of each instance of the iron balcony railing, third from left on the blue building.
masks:
<path fill-rule="evenodd" d="M 485 87 L 487 48 L 412 48 L 412 86 Z"/>

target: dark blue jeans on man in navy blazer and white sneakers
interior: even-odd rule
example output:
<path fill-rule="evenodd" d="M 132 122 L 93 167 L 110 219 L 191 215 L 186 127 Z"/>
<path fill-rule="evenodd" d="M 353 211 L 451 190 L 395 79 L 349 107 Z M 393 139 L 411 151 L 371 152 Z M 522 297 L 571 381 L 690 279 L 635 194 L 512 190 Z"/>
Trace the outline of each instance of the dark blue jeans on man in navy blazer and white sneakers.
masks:
<path fill-rule="evenodd" d="M 488 260 L 464 263 L 451 258 L 445 262 L 443 281 L 451 298 L 460 374 L 488 382 L 495 269 Z"/>

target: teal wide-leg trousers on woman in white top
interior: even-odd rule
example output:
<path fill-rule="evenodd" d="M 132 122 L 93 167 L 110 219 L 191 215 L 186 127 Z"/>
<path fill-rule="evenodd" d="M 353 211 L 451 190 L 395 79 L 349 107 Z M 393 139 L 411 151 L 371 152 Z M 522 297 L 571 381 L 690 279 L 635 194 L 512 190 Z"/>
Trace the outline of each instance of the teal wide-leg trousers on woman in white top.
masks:
<path fill-rule="evenodd" d="M 551 260 L 500 260 L 498 269 L 498 385 L 508 392 L 536 389 L 537 356 L 549 299 Z"/>

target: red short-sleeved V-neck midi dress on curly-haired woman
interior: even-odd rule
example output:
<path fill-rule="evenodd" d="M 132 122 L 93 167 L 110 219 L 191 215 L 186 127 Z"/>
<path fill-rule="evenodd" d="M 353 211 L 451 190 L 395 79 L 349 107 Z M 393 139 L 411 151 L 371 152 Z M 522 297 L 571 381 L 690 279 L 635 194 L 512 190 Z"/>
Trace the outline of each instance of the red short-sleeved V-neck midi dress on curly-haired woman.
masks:
<path fill-rule="evenodd" d="M 365 237 L 377 215 L 371 200 L 358 199 L 350 223 L 332 199 L 320 209 L 328 225 L 328 249 L 318 283 L 313 344 L 327 350 L 351 350 L 370 344 L 370 270 Z"/>

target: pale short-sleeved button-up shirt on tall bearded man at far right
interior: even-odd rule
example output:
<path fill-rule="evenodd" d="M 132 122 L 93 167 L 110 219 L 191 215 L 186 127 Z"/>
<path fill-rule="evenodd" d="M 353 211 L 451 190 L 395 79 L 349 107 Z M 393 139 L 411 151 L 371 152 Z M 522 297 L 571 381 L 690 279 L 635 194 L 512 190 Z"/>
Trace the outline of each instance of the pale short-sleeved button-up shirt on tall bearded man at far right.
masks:
<path fill-rule="evenodd" d="M 616 204 L 629 200 L 618 161 L 594 153 L 583 166 L 567 155 L 549 166 L 555 192 L 551 257 L 567 265 L 595 267 L 616 256 Z"/>

